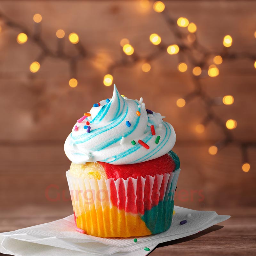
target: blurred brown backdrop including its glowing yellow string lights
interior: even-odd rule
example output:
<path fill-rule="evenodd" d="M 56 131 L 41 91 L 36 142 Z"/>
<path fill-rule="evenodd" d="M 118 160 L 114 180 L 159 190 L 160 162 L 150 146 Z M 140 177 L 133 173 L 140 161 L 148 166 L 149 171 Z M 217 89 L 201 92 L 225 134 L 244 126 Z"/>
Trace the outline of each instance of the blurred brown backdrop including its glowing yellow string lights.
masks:
<path fill-rule="evenodd" d="M 1 1 L 0 231 L 72 214 L 64 141 L 113 83 L 173 125 L 176 205 L 255 215 L 255 8 Z"/>

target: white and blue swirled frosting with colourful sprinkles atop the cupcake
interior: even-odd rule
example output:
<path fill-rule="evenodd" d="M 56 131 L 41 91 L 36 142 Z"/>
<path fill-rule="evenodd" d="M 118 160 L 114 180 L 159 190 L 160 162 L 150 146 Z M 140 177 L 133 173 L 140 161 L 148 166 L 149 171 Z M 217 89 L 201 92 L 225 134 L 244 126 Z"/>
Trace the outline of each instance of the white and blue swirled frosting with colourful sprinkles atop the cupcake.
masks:
<path fill-rule="evenodd" d="M 175 144 L 174 129 L 142 101 L 122 97 L 114 85 L 112 98 L 95 104 L 91 116 L 78 120 L 68 135 L 64 150 L 70 161 L 135 164 L 168 153 Z"/>

